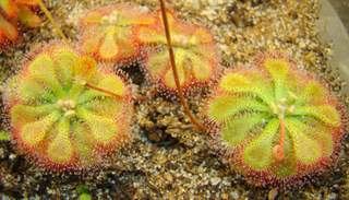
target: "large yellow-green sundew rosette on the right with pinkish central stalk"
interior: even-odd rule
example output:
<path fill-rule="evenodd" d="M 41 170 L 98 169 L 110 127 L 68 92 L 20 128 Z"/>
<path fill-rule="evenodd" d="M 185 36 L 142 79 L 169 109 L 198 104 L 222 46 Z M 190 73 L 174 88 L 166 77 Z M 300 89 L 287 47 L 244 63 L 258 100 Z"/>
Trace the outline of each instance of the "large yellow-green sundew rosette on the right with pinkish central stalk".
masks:
<path fill-rule="evenodd" d="M 255 185 L 289 184 L 336 162 L 344 111 L 314 77 L 279 54 L 226 73 L 207 108 L 228 162 Z"/>

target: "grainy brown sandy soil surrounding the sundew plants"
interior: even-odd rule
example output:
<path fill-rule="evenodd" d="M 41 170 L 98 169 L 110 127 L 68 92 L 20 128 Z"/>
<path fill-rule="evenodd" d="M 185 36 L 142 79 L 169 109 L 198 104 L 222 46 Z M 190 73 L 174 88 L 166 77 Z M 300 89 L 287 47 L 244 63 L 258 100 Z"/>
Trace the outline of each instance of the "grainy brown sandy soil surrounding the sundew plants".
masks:
<path fill-rule="evenodd" d="M 46 1 L 57 22 L 72 42 L 79 39 L 77 20 L 88 9 L 122 0 Z M 157 0 L 131 0 L 158 9 Z M 215 35 L 225 68 L 249 64 L 256 55 L 280 50 L 301 69 L 324 79 L 347 104 L 345 84 L 328 66 L 330 46 L 318 38 L 315 22 L 317 0 L 178 0 L 170 5 L 183 20 L 207 26 Z M 200 2 L 200 3 L 198 3 Z M 45 16 L 41 14 L 41 17 Z M 37 30 L 23 28 L 21 42 L 0 54 L 0 81 L 21 69 L 26 54 L 41 43 L 58 39 L 48 21 Z M 19 152 L 14 143 L 0 142 L 0 193 L 14 199 L 77 199 L 79 187 L 93 199 L 349 199 L 349 141 L 345 140 L 339 161 L 302 186 L 288 189 L 254 187 L 222 163 L 212 148 L 209 134 L 196 131 L 180 104 L 145 81 L 140 68 L 124 70 L 135 95 L 148 98 L 135 103 L 132 144 L 112 155 L 112 161 L 93 172 L 48 172 Z M 209 96 L 201 90 L 188 97 L 197 114 Z M 2 106 L 3 107 L 3 106 Z M 9 129 L 3 109 L 1 128 Z"/>

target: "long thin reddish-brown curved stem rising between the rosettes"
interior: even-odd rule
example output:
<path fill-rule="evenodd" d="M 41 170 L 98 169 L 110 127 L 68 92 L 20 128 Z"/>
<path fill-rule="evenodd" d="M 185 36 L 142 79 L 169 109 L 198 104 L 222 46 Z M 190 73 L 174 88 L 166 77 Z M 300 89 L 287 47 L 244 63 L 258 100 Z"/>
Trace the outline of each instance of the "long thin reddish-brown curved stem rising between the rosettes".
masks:
<path fill-rule="evenodd" d="M 172 72 L 173 72 L 173 78 L 174 78 L 174 82 L 176 82 L 176 86 L 178 90 L 178 95 L 180 98 L 180 102 L 184 108 L 184 113 L 185 115 L 188 115 L 188 117 L 190 118 L 191 122 L 193 125 L 195 125 L 198 129 L 206 131 L 207 128 L 202 125 L 191 113 L 188 103 L 184 99 L 183 96 L 183 91 L 182 87 L 180 85 L 179 82 L 179 78 L 178 78 L 178 71 L 176 68 L 176 59 L 174 59 L 174 52 L 173 52 L 173 47 L 172 47 L 172 42 L 171 42 L 171 34 L 169 31 L 169 25 L 168 25 L 168 19 L 167 19 L 167 14 L 166 14 L 166 5 L 165 5 L 165 1 L 164 0 L 159 0 L 160 1 L 160 7 L 161 7 L 161 15 L 163 15 L 163 21 L 164 21 L 164 26 L 165 26 L 165 33 L 166 33 L 166 39 L 167 39 L 167 46 L 168 46 L 168 51 L 169 51 L 169 57 L 170 57 L 170 61 L 171 61 L 171 67 L 172 67 Z"/>

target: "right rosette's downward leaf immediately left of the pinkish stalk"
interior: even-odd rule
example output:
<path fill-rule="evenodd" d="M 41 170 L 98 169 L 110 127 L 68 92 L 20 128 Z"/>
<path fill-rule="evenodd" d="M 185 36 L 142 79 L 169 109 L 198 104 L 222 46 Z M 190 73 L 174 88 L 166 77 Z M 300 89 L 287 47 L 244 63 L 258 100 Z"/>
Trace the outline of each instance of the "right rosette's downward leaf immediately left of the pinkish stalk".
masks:
<path fill-rule="evenodd" d="M 273 143 L 278 129 L 278 119 L 270 120 L 263 132 L 245 146 L 243 161 L 248 166 L 255 170 L 265 170 L 272 165 Z"/>

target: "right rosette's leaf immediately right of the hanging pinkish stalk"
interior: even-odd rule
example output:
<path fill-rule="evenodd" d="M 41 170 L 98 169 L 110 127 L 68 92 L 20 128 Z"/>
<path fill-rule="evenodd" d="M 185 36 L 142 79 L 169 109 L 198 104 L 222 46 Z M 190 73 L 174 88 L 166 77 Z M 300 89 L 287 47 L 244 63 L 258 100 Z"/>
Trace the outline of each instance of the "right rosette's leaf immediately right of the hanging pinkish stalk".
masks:
<path fill-rule="evenodd" d="M 313 130 L 294 118 L 287 118 L 285 125 L 290 132 L 297 160 L 305 165 L 316 163 L 322 156 L 322 148 L 309 136 Z"/>

